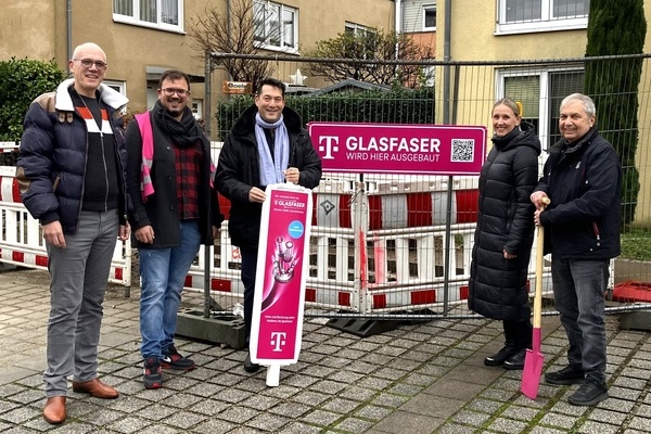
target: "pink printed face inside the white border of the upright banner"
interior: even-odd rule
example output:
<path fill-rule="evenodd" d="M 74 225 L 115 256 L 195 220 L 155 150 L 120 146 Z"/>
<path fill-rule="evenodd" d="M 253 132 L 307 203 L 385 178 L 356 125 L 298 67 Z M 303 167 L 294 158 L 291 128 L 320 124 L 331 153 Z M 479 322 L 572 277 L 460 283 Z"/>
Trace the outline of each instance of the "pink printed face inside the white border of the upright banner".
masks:
<path fill-rule="evenodd" d="M 271 190 L 265 278 L 257 339 L 258 359 L 294 358 L 302 297 L 305 192 Z"/>

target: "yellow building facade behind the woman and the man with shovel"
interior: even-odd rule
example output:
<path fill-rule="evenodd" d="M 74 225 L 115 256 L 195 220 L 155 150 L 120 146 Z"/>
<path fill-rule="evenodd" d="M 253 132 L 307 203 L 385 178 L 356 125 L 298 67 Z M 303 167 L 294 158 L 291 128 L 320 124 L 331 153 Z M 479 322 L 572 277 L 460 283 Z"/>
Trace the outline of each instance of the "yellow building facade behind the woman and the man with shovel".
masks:
<path fill-rule="evenodd" d="M 503 65 L 461 66 L 448 71 L 450 118 L 459 124 L 487 125 L 493 101 L 508 95 L 524 105 L 524 117 L 537 127 L 542 148 L 559 139 L 558 112 L 561 100 L 583 91 L 585 64 L 552 62 L 580 59 L 587 44 L 589 0 L 454 0 L 437 2 L 437 60 L 455 62 L 510 62 Z M 449 10 L 446 11 L 446 5 Z M 445 52 L 445 20 L 450 14 L 449 52 Z M 651 0 L 644 0 L 647 23 L 651 24 Z M 651 25 L 647 31 L 644 53 L 651 52 Z M 611 30 L 612 29 L 608 29 Z M 615 29 L 616 30 L 616 29 Z M 552 60 L 545 62 L 546 60 Z M 518 62 L 521 64 L 518 64 Z M 540 61 L 527 63 L 527 61 Z M 646 60 L 639 84 L 639 141 L 636 166 L 640 174 L 640 192 L 635 220 L 651 224 L 651 74 Z M 437 76 L 436 98 L 442 102 L 444 78 Z M 441 108 L 441 106 L 439 106 Z M 608 114 L 600 113 L 607 116 Z M 444 110 L 437 110 L 444 122 Z"/>

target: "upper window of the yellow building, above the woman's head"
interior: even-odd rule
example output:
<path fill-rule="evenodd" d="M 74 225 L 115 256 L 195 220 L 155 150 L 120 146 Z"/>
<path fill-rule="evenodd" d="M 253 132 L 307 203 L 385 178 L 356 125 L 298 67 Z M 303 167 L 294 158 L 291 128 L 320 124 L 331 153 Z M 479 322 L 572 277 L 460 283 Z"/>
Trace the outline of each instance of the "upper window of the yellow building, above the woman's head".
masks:
<path fill-rule="evenodd" d="M 590 0 L 498 0 L 498 34 L 587 28 Z"/>

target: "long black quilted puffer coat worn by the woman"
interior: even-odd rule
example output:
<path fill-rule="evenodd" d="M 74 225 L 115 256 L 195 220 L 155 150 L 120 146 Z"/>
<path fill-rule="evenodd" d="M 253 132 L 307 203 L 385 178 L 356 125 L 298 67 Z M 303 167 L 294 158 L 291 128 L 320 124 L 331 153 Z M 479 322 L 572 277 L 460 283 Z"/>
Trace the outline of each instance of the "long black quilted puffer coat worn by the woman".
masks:
<path fill-rule="evenodd" d="M 534 205 L 540 141 L 526 122 L 494 137 L 480 176 L 480 204 L 470 268 L 469 307 L 487 318 L 529 317 L 527 267 L 534 240 Z M 506 259 L 503 252 L 516 255 Z"/>

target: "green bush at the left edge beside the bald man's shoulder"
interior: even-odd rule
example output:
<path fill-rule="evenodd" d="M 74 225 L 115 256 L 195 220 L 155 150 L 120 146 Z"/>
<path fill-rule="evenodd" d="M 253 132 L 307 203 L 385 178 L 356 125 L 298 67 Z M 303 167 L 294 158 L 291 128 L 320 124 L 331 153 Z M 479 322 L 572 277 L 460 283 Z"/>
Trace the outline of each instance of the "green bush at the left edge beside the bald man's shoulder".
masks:
<path fill-rule="evenodd" d="M 65 77 L 53 60 L 41 62 L 11 58 L 0 61 L 0 140 L 21 140 L 23 119 L 31 101 L 56 89 Z"/>

